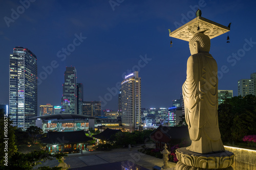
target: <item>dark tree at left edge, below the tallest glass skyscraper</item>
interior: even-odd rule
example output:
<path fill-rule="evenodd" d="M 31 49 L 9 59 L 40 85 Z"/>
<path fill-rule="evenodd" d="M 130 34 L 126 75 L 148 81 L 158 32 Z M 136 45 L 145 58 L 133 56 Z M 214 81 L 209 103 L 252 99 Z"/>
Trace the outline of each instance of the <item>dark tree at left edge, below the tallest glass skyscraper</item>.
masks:
<path fill-rule="evenodd" d="M 0 109 L 0 129 L 2 130 L 0 133 L 0 161 L 3 165 L 6 162 L 4 160 L 9 160 L 10 156 L 17 151 L 14 135 L 15 127 L 11 126 L 11 121 L 7 114 L 4 114 L 3 109 Z"/>

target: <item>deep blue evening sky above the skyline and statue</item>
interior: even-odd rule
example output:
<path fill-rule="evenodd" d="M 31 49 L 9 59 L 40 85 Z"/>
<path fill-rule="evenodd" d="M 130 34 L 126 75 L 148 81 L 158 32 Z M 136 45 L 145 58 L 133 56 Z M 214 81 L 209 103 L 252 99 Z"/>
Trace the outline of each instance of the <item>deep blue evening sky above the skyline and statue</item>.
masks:
<path fill-rule="evenodd" d="M 186 41 L 173 38 L 170 47 L 168 29 L 174 31 L 175 23 L 195 18 L 189 14 L 199 3 L 202 17 L 224 26 L 232 22 L 230 43 L 227 34 L 211 39 L 210 53 L 220 71 L 222 66 L 228 68 L 219 74 L 219 89 L 232 89 L 237 95 L 238 80 L 256 72 L 254 1 L 33 0 L 25 3 L 26 8 L 19 1 L 2 1 L 0 103 L 9 100 L 9 55 L 15 46 L 23 46 L 37 56 L 38 78 L 45 79 L 38 86 L 38 105 L 60 105 L 64 71 L 72 65 L 83 83 L 84 100 L 97 101 L 101 96 L 108 100 L 103 109 L 117 110 L 117 95 L 108 88 L 114 90 L 122 75 L 133 69 L 140 69 L 142 107 L 171 106 L 180 98 L 190 53 Z M 12 14 L 17 10 L 18 16 Z M 74 40 L 77 36 L 82 42 Z M 70 53 L 65 54 L 62 48 L 67 47 Z M 242 57 L 233 58 L 235 53 Z M 145 56 L 146 64 L 140 61 Z M 49 68 L 51 62 L 57 66 L 46 78 L 43 67 Z"/>

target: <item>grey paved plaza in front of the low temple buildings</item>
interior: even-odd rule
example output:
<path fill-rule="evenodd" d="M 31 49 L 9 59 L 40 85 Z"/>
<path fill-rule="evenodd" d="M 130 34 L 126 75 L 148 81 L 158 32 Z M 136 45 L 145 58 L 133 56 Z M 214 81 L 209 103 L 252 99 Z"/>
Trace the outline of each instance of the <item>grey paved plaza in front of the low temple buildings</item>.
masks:
<path fill-rule="evenodd" d="M 137 150 L 140 147 L 135 147 L 132 151 L 128 151 L 127 148 L 123 149 L 114 149 L 112 151 L 92 151 L 92 152 L 83 152 L 82 154 L 69 154 L 66 157 L 65 163 L 70 165 L 70 169 L 76 169 L 84 166 L 93 166 L 99 164 L 113 163 L 113 162 L 125 162 L 129 161 L 145 167 L 147 169 L 153 168 L 153 166 L 162 166 L 163 159 L 156 158 L 154 156 L 145 155 L 138 152 Z M 57 166 L 59 164 L 58 160 L 50 160 L 42 162 L 40 166 Z M 176 163 L 168 162 L 170 167 L 175 167 Z M 88 168 L 87 168 L 88 169 Z M 95 169 L 96 170 L 96 169 Z"/>

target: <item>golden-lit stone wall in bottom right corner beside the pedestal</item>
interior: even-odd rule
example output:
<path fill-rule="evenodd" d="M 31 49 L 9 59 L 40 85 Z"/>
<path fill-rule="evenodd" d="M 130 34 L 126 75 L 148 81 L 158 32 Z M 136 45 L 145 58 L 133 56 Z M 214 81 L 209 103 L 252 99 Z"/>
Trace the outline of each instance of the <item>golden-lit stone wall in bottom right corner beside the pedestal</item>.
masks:
<path fill-rule="evenodd" d="M 256 151 L 242 148 L 224 146 L 227 151 L 234 154 L 234 170 L 250 169 L 256 170 Z"/>

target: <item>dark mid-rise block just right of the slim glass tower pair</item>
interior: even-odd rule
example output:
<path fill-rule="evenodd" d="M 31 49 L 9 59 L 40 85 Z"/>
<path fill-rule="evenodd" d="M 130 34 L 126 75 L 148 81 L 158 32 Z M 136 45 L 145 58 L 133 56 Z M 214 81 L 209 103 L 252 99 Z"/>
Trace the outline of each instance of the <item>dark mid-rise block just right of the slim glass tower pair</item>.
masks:
<path fill-rule="evenodd" d="M 101 102 L 94 101 L 94 102 L 87 102 L 84 101 L 82 104 L 82 110 L 84 115 L 89 116 L 101 116 Z"/>

